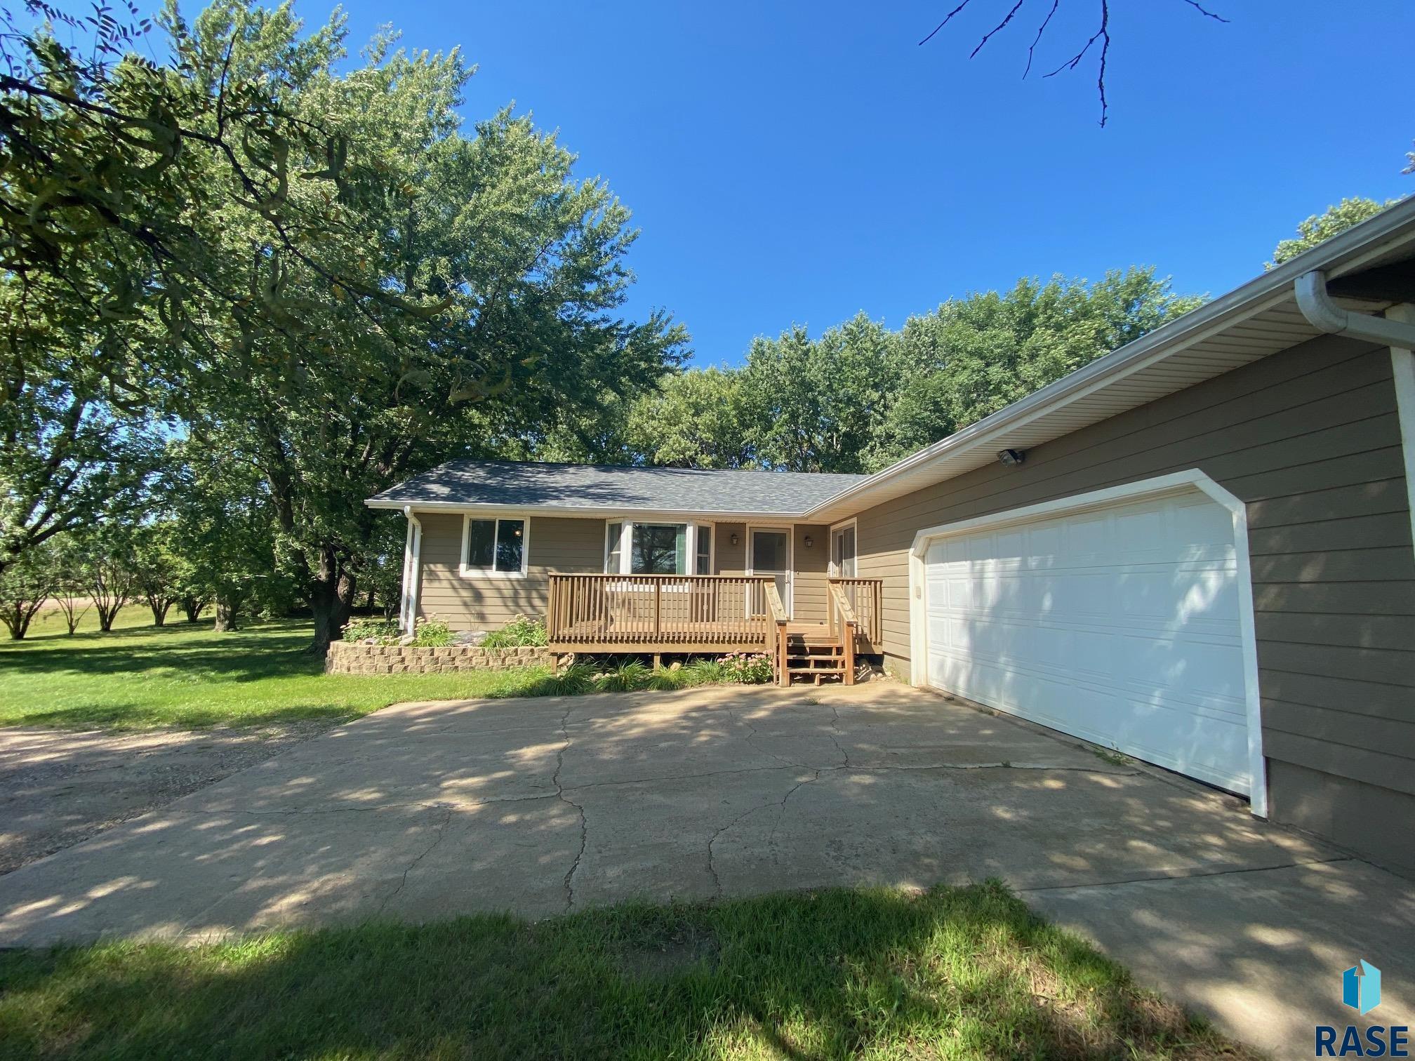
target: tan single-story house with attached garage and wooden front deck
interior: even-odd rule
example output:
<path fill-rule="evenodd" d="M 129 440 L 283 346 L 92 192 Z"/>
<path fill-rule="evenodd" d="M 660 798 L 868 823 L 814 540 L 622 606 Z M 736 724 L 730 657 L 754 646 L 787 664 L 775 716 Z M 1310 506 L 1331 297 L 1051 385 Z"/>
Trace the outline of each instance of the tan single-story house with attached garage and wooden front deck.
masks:
<path fill-rule="evenodd" d="M 405 621 L 877 655 L 1415 870 L 1411 303 L 1415 199 L 873 475 L 453 463 L 368 504 Z"/>

